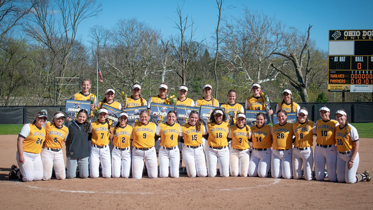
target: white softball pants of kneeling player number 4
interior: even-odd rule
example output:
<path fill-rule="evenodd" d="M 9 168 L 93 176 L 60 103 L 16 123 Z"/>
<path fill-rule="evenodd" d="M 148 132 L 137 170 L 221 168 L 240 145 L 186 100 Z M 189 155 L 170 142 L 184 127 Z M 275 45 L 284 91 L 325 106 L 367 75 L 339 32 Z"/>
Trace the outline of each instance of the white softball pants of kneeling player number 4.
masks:
<path fill-rule="evenodd" d="M 176 146 L 175 149 L 167 150 L 163 146 L 159 148 L 159 176 L 168 177 L 168 166 L 170 165 L 171 177 L 179 177 L 180 151 Z"/>

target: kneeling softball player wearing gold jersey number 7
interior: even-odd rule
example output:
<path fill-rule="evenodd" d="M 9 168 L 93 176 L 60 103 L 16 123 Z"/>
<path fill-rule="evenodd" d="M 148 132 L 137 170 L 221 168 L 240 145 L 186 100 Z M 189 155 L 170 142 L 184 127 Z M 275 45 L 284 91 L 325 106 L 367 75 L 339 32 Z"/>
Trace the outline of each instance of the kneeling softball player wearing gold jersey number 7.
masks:
<path fill-rule="evenodd" d="M 102 176 L 110 178 L 112 176 L 112 161 L 109 149 L 110 122 L 107 120 L 107 110 L 98 110 L 98 120 L 91 123 L 92 145 L 90 150 L 90 177 L 99 176 L 98 167 L 101 163 Z"/>

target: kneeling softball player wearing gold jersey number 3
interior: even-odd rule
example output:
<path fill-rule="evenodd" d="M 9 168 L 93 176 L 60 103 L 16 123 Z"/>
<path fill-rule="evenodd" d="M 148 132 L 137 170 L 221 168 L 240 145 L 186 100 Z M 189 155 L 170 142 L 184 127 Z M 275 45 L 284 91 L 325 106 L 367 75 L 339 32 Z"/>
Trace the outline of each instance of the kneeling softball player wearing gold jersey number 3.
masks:
<path fill-rule="evenodd" d="M 249 142 L 251 128 L 245 123 L 244 113 L 237 114 L 237 124 L 229 127 L 228 140 L 232 140 L 229 149 L 229 170 L 231 176 L 247 176 L 249 170 Z"/>

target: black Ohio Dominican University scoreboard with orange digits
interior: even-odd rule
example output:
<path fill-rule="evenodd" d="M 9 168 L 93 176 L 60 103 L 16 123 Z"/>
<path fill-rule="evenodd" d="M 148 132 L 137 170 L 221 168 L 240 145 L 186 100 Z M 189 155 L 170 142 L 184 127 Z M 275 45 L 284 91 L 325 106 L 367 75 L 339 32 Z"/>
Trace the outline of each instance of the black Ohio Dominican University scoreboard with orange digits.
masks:
<path fill-rule="evenodd" d="M 373 30 L 329 30 L 328 91 L 373 92 Z"/>

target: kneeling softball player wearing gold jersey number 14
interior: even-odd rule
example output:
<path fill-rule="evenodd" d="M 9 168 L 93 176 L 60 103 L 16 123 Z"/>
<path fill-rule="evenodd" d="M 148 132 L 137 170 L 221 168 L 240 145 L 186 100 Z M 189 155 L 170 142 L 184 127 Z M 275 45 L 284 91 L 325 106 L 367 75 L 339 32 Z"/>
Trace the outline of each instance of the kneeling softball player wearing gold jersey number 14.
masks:
<path fill-rule="evenodd" d="M 256 116 L 256 125 L 251 127 L 253 152 L 250 156 L 249 176 L 267 177 L 271 166 L 272 127 L 265 125 L 266 115 Z"/>

